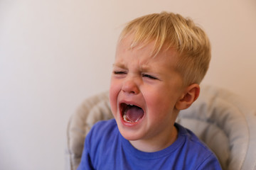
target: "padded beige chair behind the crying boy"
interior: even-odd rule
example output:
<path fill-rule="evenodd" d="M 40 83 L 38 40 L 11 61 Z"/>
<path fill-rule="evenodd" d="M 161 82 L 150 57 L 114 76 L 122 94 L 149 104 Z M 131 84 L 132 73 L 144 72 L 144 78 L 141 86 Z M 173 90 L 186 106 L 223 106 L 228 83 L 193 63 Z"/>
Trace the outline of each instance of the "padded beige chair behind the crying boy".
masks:
<path fill-rule="evenodd" d="M 85 136 L 92 125 L 110 118 L 113 117 L 107 92 L 82 103 L 68 123 L 66 169 L 77 169 Z M 198 100 L 181 111 L 176 122 L 205 142 L 224 170 L 256 170 L 256 112 L 235 94 L 213 86 L 201 86 Z"/>

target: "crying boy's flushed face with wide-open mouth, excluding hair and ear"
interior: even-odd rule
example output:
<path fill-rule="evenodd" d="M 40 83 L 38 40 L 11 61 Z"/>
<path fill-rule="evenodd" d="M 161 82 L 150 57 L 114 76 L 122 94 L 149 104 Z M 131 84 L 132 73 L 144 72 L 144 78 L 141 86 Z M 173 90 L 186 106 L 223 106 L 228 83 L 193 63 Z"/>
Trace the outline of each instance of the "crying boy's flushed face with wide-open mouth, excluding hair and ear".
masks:
<path fill-rule="evenodd" d="M 182 79 L 173 50 L 151 57 L 154 42 L 131 50 L 131 40 L 129 35 L 117 45 L 110 85 L 112 113 L 127 140 L 157 142 L 174 130 Z"/>

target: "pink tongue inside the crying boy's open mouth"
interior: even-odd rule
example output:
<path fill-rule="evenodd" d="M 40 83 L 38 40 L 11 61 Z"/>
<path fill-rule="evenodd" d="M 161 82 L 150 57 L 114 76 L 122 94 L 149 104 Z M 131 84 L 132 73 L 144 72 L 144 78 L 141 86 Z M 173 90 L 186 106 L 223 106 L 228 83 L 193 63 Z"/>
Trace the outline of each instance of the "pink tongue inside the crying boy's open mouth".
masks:
<path fill-rule="evenodd" d="M 125 117 L 130 122 L 137 122 L 139 119 L 142 118 L 144 115 L 144 111 L 142 108 L 139 108 L 137 106 L 132 106 L 129 109 L 127 109 L 125 113 Z"/>

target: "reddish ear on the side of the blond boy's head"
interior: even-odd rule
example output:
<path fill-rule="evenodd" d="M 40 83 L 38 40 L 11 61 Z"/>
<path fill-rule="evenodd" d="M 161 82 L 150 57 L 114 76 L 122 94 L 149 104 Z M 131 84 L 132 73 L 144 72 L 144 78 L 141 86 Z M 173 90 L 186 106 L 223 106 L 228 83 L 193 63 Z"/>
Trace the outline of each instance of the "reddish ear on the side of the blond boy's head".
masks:
<path fill-rule="evenodd" d="M 183 110 L 191 106 L 191 104 L 196 101 L 200 94 L 200 86 L 198 84 L 191 84 L 186 87 L 181 98 L 176 102 L 176 109 Z"/>

